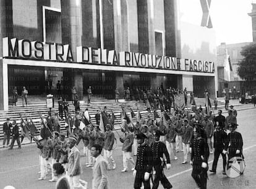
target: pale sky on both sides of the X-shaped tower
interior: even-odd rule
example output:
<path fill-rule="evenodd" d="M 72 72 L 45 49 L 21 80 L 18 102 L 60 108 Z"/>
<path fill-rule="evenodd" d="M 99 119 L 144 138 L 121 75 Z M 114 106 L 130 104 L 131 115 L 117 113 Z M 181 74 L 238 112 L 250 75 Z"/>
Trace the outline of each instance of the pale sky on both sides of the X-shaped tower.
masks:
<path fill-rule="evenodd" d="M 200 0 L 178 1 L 181 7 L 181 21 L 200 25 Z M 216 45 L 221 42 L 252 42 L 252 19 L 248 15 L 252 12 L 252 1 L 255 0 L 211 0 L 210 16 L 216 31 Z"/>

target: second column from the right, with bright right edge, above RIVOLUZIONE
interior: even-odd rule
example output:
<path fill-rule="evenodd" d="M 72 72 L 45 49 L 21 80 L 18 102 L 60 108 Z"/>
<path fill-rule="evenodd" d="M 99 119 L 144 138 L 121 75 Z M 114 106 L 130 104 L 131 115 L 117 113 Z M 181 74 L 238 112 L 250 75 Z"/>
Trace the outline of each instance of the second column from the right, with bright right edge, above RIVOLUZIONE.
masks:
<path fill-rule="evenodd" d="M 139 52 L 155 54 L 153 0 L 137 0 Z"/>

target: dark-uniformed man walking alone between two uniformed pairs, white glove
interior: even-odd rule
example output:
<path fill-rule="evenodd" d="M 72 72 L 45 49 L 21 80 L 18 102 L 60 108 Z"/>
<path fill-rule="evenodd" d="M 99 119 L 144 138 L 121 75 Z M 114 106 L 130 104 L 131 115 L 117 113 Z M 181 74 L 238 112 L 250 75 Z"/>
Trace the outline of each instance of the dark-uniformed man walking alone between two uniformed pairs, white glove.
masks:
<path fill-rule="evenodd" d="M 207 140 L 202 137 L 203 132 L 200 127 L 194 128 L 190 160 L 190 164 L 193 166 L 191 175 L 199 188 L 207 188 L 209 148 Z"/>

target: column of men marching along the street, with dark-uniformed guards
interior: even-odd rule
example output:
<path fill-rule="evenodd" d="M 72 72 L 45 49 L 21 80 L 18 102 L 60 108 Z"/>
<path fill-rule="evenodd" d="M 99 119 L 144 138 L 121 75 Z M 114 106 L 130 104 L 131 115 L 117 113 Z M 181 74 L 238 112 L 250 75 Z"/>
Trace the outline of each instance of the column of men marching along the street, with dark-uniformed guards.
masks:
<path fill-rule="evenodd" d="M 122 132 L 124 133 L 120 137 L 120 141 L 123 143 L 124 169 L 122 172 L 128 171 L 127 163 L 129 161 L 132 164 L 132 170 L 134 170 L 134 188 L 140 188 L 142 183 L 144 188 L 150 188 L 150 178 L 153 188 L 158 188 L 159 181 L 161 181 L 164 188 L 171 188 L 172 185 L 166 179 L 163 168 L 169 169 L 171 167 L 171 157 L 177 160 L 177 153 L 182 148 L 182 151 L 184 151 L 184 161 L 182 163 L 187 163 L 187 155 L 189 147 L 191 147 L 192 177 L 198 187 L 206 188 L 207 161 L 209 153 L 213 153 L 213 148 L 214 161 L 211 169 L 213 173 L 216 172 L 220 154 L 223 156 L 223 174 L 225 173 L 226 153 L 228 152 L 228 159 L 242 155 L 242 136 L 235 131 L 237 124 L 234 112 L 236 111 L 229 111 L 227 118 L 224 118 L 221 115 L 221 110 L 219 110 L 218 116 L 212 118 L 212 116 L 203 116 L 202 110 L 195 109 L 194 116 L 185 112 L 177 112 L 171 118 L 167 117 L 164 124 L 163 118 L 148 118 L 147 121 L 140 119 L 135 125 L 124 124 L 122 126 Z M 109 115 L 106 108 L 104 114 L 108 119 Z M 98 113 L 95 117 L 96 119 L 98 118 Z M 112 118 L 108 120 L 110 119 Z M 81 127 L 82 123 L 84 124 L 83 127 Z M 66 142 L 65 134 L 60 132 L 58 114 L 54 118 L 50 115 L 42 116 L 40 132 L 42 139 L 36 140 L 38 148 L 40 148 L 40 179 L 38 180 L 46 179 L 48 164 L 53 166 L 54 163 L 59 162 L 66 169 L 70 185 L 81 187 L 79 179 L 80 174 L 82 174 L 82 168 L 80 165 L 80 152 L 77 148 L 80 140 L 83 141 L 83 153 L 85 154 L 87 167 L 95 167 L 96 155 L 91 155 L 92 151 L 90 150 L 94 145 L 100 145 L 103 148 L 103 157 L 108 165 L 108 170 L 116 169 L 116 163 L 113 159 L 114 143 L 116 142 L 112 131 L 113 123 L 112 121 L 110 124 L 106 124 L 104 131 L 101 131 L 102 128 L 100 129 L 100 126 L 90 123 L 90 115 L 88 116 L 87 113 L 77 112 L 73 118 L 70 113 L 67 113 L 66 129 L 69 139 Z M 4 126 L 6 140 L 9 133 L 13 135 L 10 147 L 12 149 L 15 140 L 19 145 L 19 140 L 17 139 L 17 127 L 19 128 L 19 126 L 14 122 L 14 127 L 12 128 L 8 119 Z M 216 129 L 215 132 L 213 132 L 214 129 Z M 224 131 L 225 129 L 229 129 L 231 133 L 227 135 Z M 212 137 L 213 146 L 211 143 Z M 134 155 L 137 156 L 136 163 L 131 155 L 132 146 L 135 148 Z M 101 149 L 98 149 L 98 151 L 101 152 Z M 49 162 L 49 158 L 51 158 L 51 162 Z M 56 181 L 53 174 L 50 181 Z"/>

